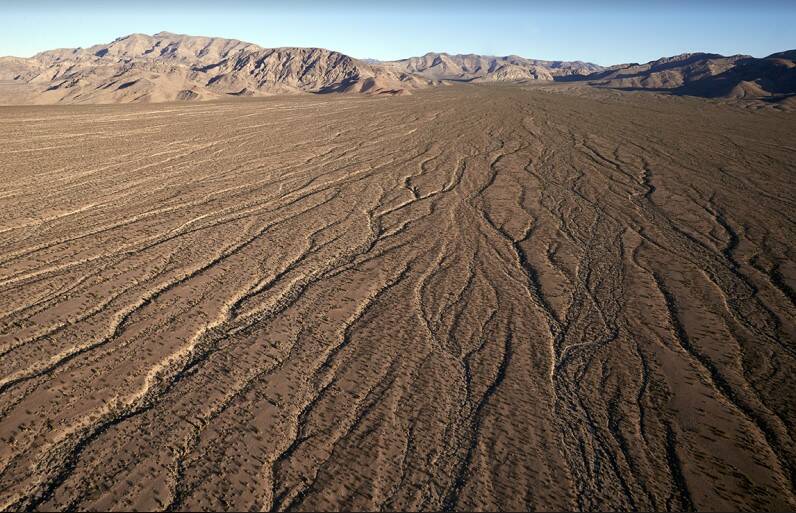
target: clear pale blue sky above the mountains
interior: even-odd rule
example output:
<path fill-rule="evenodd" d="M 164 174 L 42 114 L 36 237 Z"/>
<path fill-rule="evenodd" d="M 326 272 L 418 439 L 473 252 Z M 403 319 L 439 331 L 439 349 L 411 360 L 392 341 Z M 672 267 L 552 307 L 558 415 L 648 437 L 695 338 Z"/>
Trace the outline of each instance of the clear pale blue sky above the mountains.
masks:
<path fill-rule="evenodd" d="M 0 22 L 0 55 L 20 57 L 161 30 L 377 59 L 446 51 L 608 65 L 796 48 L 794 0 L 0 0 Z"/>

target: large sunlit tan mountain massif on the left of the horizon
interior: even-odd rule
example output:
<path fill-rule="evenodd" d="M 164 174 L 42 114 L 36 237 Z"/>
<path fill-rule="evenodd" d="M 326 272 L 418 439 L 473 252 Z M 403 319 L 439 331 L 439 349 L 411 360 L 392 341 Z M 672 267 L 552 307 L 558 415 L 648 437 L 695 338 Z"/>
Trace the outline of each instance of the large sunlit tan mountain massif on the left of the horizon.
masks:
<path fill-rule="evenodd" d="M 27 84 L 41 103 L 212 99 L 351 91 L 405 94 L 424 80 L 322 48 L 261 48 L 161 31 L 86 49 L 0 63 L 0 80 Z"/>

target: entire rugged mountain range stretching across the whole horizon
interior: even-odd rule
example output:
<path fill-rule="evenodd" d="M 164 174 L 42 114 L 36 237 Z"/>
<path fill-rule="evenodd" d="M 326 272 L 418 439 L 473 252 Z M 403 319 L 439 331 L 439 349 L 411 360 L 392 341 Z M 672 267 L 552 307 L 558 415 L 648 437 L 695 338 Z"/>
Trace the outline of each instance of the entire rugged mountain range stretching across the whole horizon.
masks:
<path fill-rule="evenodd" d="M 208 100 L 285 93 L 411 94 L 452 82 L 584 82 L 705 97 L 796 93 L 796 51 L 763 59 L 692 53 L 602 67 L 516 55 L 427 53 L 398 61 L 355 59 L 322 48 L 262 48 L 169 32 L 132 34 L 90 48 L 0 58 L 0 104 Z"/>

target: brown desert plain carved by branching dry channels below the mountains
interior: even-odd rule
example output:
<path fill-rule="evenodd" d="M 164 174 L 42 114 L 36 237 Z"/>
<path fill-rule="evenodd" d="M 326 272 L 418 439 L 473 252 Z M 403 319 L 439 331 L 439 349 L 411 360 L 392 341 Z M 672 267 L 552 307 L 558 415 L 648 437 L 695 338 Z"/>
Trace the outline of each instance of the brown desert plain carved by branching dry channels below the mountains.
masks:
<path fill-rule="evenodd" d="M 0 509 L 796 508 L 796 114 L 0 109 Z"/>

